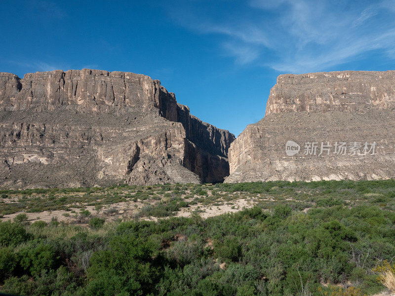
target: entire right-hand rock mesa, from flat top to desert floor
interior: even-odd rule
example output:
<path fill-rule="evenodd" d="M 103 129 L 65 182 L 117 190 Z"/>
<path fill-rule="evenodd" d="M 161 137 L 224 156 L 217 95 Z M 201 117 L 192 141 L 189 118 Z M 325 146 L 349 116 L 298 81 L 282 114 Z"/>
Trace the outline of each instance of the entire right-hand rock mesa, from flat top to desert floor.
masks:
<path fill-rule="evenodd" d="M 395 178 L 395 71 L 279 75 L 229 161 L 225 182 Z"/>

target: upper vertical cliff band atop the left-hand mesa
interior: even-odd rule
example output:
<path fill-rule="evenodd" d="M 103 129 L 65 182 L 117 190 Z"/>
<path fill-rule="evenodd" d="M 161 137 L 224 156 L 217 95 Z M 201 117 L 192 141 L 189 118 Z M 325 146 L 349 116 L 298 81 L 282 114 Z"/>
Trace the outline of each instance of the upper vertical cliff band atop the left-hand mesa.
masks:
<path fill-rule="evenodd" d="M 149 76 L 129 72 L 69 70 L 28 73 L 23 79 L 0 73 L 0 110 L 120 114 L 152 111 L 176 121 L 173 93 Z"/>

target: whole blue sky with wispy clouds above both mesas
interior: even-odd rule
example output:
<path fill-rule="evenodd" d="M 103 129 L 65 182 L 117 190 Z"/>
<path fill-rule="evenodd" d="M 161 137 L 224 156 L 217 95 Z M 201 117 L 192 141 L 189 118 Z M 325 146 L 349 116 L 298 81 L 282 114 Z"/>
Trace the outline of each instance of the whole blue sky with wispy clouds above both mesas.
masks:
<path fill-rule="evenodd" d="M 161 80 L 238 135 L 276 76 L 395 69 L 395 1 L 3 1 L 0 72 L 92 68 Z"/>

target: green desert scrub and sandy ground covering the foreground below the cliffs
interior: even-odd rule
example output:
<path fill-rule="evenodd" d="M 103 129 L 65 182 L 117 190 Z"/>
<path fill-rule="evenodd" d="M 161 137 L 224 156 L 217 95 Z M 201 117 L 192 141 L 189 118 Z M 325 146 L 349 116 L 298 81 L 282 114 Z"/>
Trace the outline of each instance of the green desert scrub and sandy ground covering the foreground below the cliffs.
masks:
<path fill-rule="evenodd" d="M 393 180 L 0 196 L 3 293 L 362 296 L 393 289 Z M 210 212 L 225 206 L 233 213 Z M 37 219 L 43 212 L 50 219 Z"/>

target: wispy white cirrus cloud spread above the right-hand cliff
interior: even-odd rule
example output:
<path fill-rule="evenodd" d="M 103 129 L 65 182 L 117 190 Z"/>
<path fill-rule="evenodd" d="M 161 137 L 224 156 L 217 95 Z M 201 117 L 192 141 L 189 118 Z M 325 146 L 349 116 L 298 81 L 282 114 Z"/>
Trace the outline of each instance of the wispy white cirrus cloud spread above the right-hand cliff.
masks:
<path fill-rule="evenodd" d="M 324 71 L 373 50 L 395 58 L 394 0 L 250 0 L 243 6 L 237 21 L 189 15 L 182 23 L 218 35 L 221 54 L 235 63 L 280 72 Z"/>

